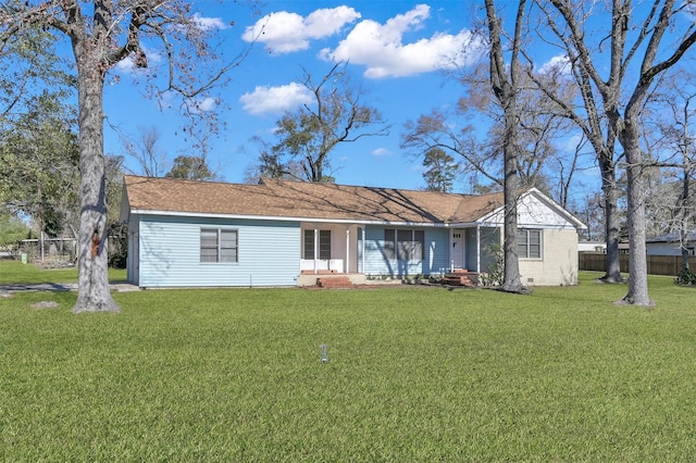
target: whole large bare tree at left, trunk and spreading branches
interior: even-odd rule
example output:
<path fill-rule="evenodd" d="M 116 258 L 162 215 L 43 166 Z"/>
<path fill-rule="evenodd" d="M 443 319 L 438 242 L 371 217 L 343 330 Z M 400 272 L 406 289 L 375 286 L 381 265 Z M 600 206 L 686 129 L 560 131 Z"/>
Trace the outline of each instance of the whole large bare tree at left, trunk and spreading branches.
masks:
<path fill-rule="evenodd" d="M 214 29 L 184 0 L 27 0 L 0 7 L 0 43 L 32 27 L 70 39 L 77 83 L 82 211 L 78 295 L 73 312 L 119 311 L 109 290 L 107 185 L 103 153 L 103 90 L 109 71 L 129 58 L 148 66 L 142 41 L 161 43 L 167 67 L 164 91 L 184 97 L 183 110 L 198 113 L 200 98 L 244 58 L 209 68 Z M 192 64 L 196 65 L 192 65 Z M 154 83 L 153 83 L 154 84 Z"/>

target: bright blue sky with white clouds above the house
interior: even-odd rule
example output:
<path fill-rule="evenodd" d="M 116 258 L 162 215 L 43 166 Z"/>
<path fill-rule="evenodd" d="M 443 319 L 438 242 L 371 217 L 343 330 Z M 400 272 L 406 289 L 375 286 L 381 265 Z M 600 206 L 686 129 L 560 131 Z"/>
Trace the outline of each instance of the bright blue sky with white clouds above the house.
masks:
<path fill-rule="evenodd" d="M 231 84 L 222 93 L 225 125 L 211 141 L 209 154 L 209 165 L 221 179 L 245 182 L 259 152 L 252 138 L 272 143 L 283 113 L 311 101 L 298 84 L 304 71 L 322 76 L 333 62 L 345 61 L 351 80 L 366 91 L 364 101 L 382 113 L 390 130 L 385 137 L 339 146 L 331 153 L 332 171 L 326 174 L 345 185 L 425 186 L 422 158 L 400 148 L 403 126 L 434 109 L 451 108 L 462 96 L 452 73 L 476 61 L 475 53 L 462 51 L 473 48 L 467 47 L 471 27 L 482 14 L 473 4 L 458 0 L 269 0 L 260 13 L 231 1 L 194 4 L 201 24 L 219 28 L 227 57 L 251 47 L 231 72 Z M 554 59 L 550 52 L 539 53 L 539 66 Z M 152 53 L 149 60 L 158 63 L 161 58 Z M 160 149 L 170 162 L 185 153 L 177 110 L 161 110 L 157 101 L 144 98 L 142 82 L 128 61 L 113 72 L 120 79 L 104 92 L 105 152 L 123 152 L 120 136 L 137 139 L 139 130 L 157 127 Z M 140 88 L 134 87 L 134 80 Z M 137 173 L 137 165 L 127 162 Z M 456 185 L 459 191 L 467 188 L 465 182 Z"/>

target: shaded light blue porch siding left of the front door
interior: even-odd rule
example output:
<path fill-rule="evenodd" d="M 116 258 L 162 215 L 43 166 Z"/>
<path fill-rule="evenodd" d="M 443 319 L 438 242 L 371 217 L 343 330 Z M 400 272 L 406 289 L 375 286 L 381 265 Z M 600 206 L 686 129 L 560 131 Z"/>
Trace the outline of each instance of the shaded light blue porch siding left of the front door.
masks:
<path fill-rule="evenodd" d="M 365 227 L 365 275 L 389 275 L 399 277 L 406 275 L 438 275 L 449 268 L 449 230 L 446 228 L 424 228 L 425 242 L 422 261 L 387 260 L 384 249 L 384 229 L 399 227 L 366 226 Z M 417 227 L 401 227 L 403 229 L 421 229 Z M 358 246 L 362 250 L 362 246 Z M 359 253 L 362 266 L 362 253 Z"/>

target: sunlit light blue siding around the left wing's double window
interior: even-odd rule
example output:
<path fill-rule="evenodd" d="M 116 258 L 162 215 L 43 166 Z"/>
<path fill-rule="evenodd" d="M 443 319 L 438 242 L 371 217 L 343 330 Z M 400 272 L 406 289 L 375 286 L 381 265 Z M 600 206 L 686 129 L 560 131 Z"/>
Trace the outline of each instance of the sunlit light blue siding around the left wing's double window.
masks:
<path fill-rule="evenodd" d="M 200 229 L 237 230 L 237 263 L 201 263 Z M 141 216 L 139 286 L 295 286 L 299 222 Z"/>

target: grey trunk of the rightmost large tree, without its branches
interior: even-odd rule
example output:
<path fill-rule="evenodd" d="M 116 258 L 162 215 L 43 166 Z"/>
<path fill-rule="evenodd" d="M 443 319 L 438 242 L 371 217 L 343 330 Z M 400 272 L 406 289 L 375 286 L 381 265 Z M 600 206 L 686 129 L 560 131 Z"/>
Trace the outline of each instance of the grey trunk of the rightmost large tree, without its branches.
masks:
<path fill-rule="evenodd" d="M 645 245 L 645 177 L 637 117 L 626 117 L 621 130 L 621 145 L 626 157 L 629 223 L 629 293 L 623 302 L 654 305 L 648 297 L 648 265 Z"/>

